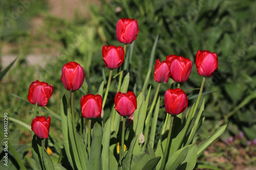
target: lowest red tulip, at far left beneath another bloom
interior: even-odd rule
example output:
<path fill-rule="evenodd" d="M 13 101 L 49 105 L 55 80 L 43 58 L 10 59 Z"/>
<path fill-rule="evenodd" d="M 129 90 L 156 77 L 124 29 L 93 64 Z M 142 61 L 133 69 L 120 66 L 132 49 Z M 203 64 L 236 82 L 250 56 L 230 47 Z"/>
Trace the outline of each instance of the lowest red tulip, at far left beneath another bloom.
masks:
<path fill-rule="evenodd" d="M 50 131 L 51 117 L 48 116 L 36 116 L 31 123 L 31 130 L 40 139 L 47 139 Z"/>

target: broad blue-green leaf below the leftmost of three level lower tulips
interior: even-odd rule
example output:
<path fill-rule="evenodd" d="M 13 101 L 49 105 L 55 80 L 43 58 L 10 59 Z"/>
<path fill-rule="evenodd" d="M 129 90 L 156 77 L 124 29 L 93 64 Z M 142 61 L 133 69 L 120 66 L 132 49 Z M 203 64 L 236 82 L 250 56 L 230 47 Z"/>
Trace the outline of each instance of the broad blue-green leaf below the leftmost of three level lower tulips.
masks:
<path fill-rule="evenodd" d="M 102 169 L 100 159 L 102 133 L 101 126 L 98 123 L 95 123 L 93 126 L 93 138 L 87 169 Z"/>

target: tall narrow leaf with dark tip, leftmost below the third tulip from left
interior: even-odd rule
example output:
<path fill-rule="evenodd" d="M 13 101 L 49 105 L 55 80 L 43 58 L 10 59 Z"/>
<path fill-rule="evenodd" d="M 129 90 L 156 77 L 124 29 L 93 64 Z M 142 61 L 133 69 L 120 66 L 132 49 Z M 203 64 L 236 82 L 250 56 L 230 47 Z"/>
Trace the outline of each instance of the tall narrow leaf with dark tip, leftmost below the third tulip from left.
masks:
<path fill-rule="evenodd" d="M 74 169 L 73 164 L 73 157 L 71 156 L 70 151 L 70 143 L 69 143 L 69 128 L 68 128 L 68 103 L 65 94 L 62 97 L 62 101 L 60 103 L 60 116 L 61 116 L 61 128 L 62 128 L 62 135 L 63 135 L 63 145 L 69 159 L 71 166 Z"/>

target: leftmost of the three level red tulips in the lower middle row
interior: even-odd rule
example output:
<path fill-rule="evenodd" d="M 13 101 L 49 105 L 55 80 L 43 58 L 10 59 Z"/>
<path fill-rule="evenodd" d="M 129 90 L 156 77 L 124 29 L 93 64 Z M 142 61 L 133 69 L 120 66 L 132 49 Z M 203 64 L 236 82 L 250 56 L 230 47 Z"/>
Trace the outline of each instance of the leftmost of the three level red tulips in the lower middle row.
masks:
<path fill-rule="evenodd" d="M 99 94 L 87 94 L 81 98 L 82 116 L 84 118 L 96 118 L 101 115 L 102 97 Z"/>

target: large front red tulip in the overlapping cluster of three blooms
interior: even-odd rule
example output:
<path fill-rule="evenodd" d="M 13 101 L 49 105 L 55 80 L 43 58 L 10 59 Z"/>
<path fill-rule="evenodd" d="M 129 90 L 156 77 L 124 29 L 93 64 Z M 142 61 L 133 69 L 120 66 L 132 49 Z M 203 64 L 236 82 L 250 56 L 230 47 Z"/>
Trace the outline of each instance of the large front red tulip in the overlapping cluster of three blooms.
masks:
<path fill-rule="evenodd" d="M 170 75 L 173 80 L 179 83 L 187 81 L 192 65 L 192 61 L 183 56 L 173 58 L 170 62 Z"/>

